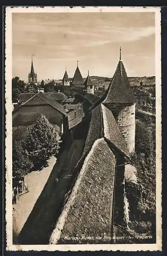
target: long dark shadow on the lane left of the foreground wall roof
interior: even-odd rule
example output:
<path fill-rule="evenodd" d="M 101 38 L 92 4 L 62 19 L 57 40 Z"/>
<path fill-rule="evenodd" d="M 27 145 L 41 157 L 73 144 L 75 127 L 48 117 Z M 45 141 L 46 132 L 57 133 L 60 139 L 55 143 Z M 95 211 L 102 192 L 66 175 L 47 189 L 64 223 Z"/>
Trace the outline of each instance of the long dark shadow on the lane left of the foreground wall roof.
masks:
<path fill-rule="evenodd" d="M 71 140 L 70 133 L 64 138 L 57 163 L 55 163 L 41 195 L 24 224 L 18 241 L 13 241 L 13 243 L 49 243 L 51 232 L 75 180 L 74 166 L 82 154 L 88 125 L 88 121 L 77 125 L 73 132 L 73 140 Z"/>

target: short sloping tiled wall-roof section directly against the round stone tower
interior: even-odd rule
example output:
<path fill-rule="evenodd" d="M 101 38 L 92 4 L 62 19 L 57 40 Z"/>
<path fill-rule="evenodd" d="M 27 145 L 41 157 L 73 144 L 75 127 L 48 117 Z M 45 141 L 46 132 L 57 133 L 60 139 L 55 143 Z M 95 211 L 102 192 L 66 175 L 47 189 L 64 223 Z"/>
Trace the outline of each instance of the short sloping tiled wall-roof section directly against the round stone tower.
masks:
<path fill-rule="evenodd" d="M 103 112 L 104 137 L 112 142 L 119 151 L 129 157 L 126 142 L 122 137 L 112 112 L 103 104 L 101 104 L 101 108 Z"/>

